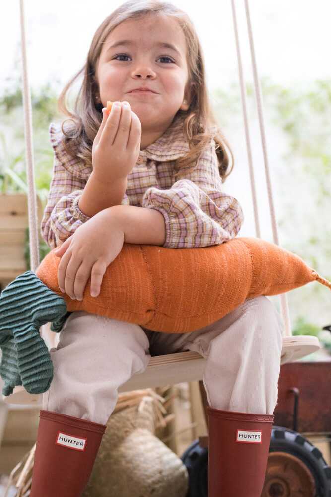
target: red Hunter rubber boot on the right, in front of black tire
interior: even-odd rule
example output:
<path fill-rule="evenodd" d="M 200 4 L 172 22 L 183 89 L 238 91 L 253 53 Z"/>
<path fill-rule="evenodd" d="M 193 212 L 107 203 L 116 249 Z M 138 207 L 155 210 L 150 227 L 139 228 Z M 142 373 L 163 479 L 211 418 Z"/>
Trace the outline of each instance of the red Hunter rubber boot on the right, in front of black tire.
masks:
<path fill-rule="evenodd" d="M 260 497 L 273 414 L 221 411 L 207 406 L 208 497 Z"/>

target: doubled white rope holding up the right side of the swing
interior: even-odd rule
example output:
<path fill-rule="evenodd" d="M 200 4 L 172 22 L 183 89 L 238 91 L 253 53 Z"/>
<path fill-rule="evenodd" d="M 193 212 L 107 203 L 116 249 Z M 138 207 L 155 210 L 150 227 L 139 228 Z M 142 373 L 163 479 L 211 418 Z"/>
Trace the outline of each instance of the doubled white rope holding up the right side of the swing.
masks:
<path fill-rule="evenodd" d="M 239 69 L 239 79 L 240 79 L 243 115 L 244 115 L 244 123 L 245 123 L 247 154 L 248 154 L 248 161 L 249 161 L 249 167 L 250 167 L 250 180 L 251 180 L 251 189 L 252 189 L 252 196 L 253 196 L 255 227 L 256 227 L 256 233 L 258 234 L 257 236 L 260 238 L 260 226 L 259 226 L 259 218 L 258 218 L 258 213 L 257 213 L 257 210 L 258 210 L 257 209 L 257 198 L 256 198 L 257 195 L 256 195 L 255 180 L 254 180 L 254 174 L 253 174 L 253 166 L 252 166 L 250 137 L 249 137 L 249 131 L 248 131 L 246 97 L 245 97 L 245 95 L 246 95 L 245 81 L 244 81 L 244 76 L 243 76 L 244 73 L 243 73 L 241 55 L 240 55 L 240 43 L 239 43 L 239 36 L 238 36 L 238 30 L 237 30 L 235 2 L 234 2 L 234 0 L 231 0 L 231 1 L 232 1 L 232 14 L 233 14 L 234 31 L 235 31 L 235 37 L 236 37 L 236 48 L 237 48 L 237 57 L 238 57 L 238 69 Z M 268 162 L 268 155 L 267 155 L 267 149 L 266 149 L 265 123 L 264 123 L 264 116 L 263 116 L 260 80 L 259 80 L 259 75 L 258 75 L 255 49 L 254 49 L 253 30 L 252 30 L 252 25 L 251 25 L 248 0 L 244 0 L 244 1 L 245 1 L 245 10 L 246 10 L 247 29 L 248 29 L 250 49 L 251 49 L 251 59 L 252 59 L 253 77 L 254 77 L 254 91 L 255 91 L 257 108 L 258 108 L 260 137 L 261 137 L 261 144 L 262 144 L 263 158 L 264 158 L 264 165 L 265 165 L 265 178 L 266 178 L 266 186 L 267 186 L 268 199 L 269 199 L 269 209 L 270 209 L 270 216 L 271 216 L 273 242 L 279 246 L 277 221 L 276 221 L 276 214 L 275 214 L 275 208 L 274 208 L 274 202 L 273 202 L 272 184 L 271 184 L 271 177 L 270 177 L 270 173 L 269 173 L 269 162 Z M 282 293 L 280 295 L 280 305 L 281 305 L 281 312 L 282 312 L 282 317 L 283 317 L 284 325 L 285 325 L 284 336 L 292 336 L 290 316 L 289 316 L 289 308 L 288 308 L 288 300 L 287 300 L 286 293 Z"/>

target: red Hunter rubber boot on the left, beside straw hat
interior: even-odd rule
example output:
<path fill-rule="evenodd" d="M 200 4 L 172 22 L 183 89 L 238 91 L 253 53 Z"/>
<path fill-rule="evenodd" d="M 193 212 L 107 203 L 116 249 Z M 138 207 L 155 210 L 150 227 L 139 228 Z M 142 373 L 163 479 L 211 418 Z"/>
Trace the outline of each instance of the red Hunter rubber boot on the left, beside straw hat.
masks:
<path fill-rule="evenodd" d="M 41 410 L 30 497 L 80 497 L 106 427 Z"/>

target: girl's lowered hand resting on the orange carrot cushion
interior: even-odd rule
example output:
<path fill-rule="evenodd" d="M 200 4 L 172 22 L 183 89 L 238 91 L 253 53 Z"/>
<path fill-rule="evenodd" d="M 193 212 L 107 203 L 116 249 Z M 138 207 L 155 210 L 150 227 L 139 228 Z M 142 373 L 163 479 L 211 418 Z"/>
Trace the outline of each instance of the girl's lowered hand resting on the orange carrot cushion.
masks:
<path fill-rule="evenodd" d="M 71 299 L 82 300 L 91 277 L 91 296 L 97 297 L 107 267 L 122 250 L 124 232 L 116 216 L 100 211 L 79 226 L 54 253 L 60 290 Z"/>

